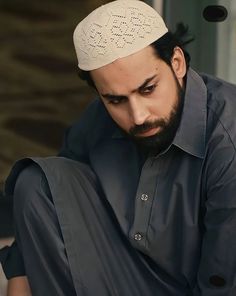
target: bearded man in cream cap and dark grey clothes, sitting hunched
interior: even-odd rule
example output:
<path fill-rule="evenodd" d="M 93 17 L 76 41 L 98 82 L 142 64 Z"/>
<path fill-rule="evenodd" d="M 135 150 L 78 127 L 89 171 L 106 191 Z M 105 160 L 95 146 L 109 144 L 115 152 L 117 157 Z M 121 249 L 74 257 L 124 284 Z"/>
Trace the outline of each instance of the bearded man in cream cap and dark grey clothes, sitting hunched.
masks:
<path fill-rule="evenodd" d="M 235 295 L 236 87 L 189 68 L 138 0 L 92 12 L 74 44 L 99 99 L 65 158 L 6 184 L 32 295 Z"/>

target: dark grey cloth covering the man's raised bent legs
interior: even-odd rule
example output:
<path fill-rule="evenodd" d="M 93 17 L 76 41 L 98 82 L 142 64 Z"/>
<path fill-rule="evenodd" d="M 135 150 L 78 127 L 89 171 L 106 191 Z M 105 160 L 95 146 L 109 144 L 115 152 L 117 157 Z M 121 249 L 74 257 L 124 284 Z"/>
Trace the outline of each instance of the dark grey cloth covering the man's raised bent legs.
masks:
<path fill-rule="evenodd" d="M 131 246 L 89 167 L 60 169 L 54 178 L 32 163 L 16 179 L 16 240 L 33 296 L 177 295 Z"/>

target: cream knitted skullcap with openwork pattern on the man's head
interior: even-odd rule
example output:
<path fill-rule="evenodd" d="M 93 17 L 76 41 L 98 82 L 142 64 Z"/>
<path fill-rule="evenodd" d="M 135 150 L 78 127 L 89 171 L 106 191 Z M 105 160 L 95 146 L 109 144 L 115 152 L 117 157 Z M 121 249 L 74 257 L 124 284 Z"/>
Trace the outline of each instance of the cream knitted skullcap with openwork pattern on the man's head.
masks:
<path fill-rule="evenodd" d="M 136 53 L 168 31 L 151 6 L 116 0 L 98 7 L 74 31 L 78 66 L 90 71 Z"/>

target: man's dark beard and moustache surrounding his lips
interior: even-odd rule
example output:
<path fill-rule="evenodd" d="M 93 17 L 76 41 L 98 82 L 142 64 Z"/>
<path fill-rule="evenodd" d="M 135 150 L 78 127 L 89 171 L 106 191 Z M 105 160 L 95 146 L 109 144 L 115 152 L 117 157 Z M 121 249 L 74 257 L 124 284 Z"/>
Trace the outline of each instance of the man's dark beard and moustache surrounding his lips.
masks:
<path fill-rule="evenodd" d="M 173 74 L 177 86 L 177 101 L 170 112 L 169 118 L 161 118 L 152 122 L 146 121 L 142 125 L 136 125 L 129 130 L 129 137 L 145 154 L 157 155 L 166 150 L 171 145 L 179 127 L 183 112 L 185 91 L 179 84 L 175 73 Z M 152 128 L 160 128 L 160 130 L 152 136 L 138 136 L 140 133 L 148 131 Z"/>

